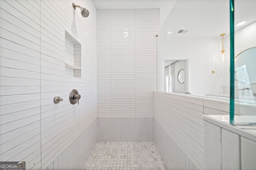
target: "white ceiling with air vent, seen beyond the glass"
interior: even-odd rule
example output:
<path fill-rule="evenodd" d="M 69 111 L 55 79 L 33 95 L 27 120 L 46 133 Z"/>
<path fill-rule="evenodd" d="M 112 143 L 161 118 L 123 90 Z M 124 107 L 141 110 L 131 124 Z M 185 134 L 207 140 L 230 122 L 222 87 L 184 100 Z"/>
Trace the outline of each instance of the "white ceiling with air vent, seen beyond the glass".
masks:
<path fill-rule="evenodd" d="M 244 25 L 235 26 L 238 30 L 256 21 L 256 0 L 235 0 L 235 25 L 246 21 Z M 160 35 L 166 37 L 219 37 L 230 33 L 229 0 L 177 0 L 172 8 Z M 187 33 L 177 33 L 180 29 Z M 168 38 L 167 38 L 168 39 Z"/>

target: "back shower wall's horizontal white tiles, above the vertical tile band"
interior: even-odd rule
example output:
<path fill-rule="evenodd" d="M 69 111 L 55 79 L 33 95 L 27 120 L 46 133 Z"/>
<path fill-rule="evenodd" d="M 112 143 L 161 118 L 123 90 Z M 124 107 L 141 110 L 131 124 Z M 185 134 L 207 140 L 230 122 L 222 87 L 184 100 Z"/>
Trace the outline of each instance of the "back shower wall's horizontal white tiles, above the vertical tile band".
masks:
<path fill-rule="evenodd" d="M 160 10 L 97 10 L 98 117 L 154 117 Z"/>

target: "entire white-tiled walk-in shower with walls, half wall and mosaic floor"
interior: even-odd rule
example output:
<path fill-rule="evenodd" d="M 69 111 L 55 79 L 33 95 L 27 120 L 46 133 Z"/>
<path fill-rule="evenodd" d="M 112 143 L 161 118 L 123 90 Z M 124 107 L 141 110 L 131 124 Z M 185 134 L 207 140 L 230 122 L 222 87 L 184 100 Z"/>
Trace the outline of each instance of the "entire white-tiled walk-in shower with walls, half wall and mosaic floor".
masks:
<path fill-rule="evenodd" d="M 160 9 L 96 10 L 78 0 L 84 18 L 72 2 L 0 0 L 0 162 L 203 170 L 202 117 L 227 115 L 229 103 L 156 92 Z M 73 89 L 79 104 L 70 103 Z"/>

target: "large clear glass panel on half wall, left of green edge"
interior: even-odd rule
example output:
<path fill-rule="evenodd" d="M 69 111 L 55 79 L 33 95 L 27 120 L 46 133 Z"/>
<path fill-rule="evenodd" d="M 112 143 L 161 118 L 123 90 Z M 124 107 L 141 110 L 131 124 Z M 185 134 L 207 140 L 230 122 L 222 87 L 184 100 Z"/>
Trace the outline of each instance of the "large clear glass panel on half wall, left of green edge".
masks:
<path fill-rule="evenodd" d="M 178 93 L 229 100 L 228 9 L 229 0 L 177 0 L 157 37 L 158 91 L 168 89 L 168 61 L 185 61 L 184 83 L 178 79 L 179 72 L 172 79 L 184 85 L 185 90 Z"/>

